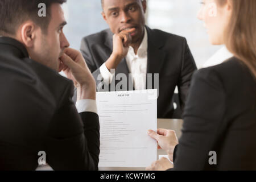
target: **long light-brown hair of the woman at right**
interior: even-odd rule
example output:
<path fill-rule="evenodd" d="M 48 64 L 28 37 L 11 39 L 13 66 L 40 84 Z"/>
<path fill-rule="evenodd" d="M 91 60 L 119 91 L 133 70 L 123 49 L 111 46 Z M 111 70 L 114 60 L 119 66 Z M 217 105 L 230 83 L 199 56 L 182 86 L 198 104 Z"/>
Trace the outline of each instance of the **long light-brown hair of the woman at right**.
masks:
<path fill-rule="evenodd" d="M 217 0 L 221 6 L 228 0 Z M 256 1 L 230 0 L 232 17 L 225 32 L 225 44 L 256 78 Z"/>

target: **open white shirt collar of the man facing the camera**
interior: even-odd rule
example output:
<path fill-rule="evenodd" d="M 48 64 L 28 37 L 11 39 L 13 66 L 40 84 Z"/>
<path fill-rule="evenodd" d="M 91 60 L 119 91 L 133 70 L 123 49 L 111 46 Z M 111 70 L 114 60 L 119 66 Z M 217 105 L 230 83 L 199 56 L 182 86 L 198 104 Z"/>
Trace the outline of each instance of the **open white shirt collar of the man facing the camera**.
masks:
<path fill-rule="evenodd" d="M 147 30 L 146 30 L 146 27 L 144 27 L 144 37 L 143 37 L 141 45 L 138 48 L 137 55 L 135 55 L 133 47 L 130 46 L 127 56 L 128 55 L 133 56 L 133 57 L 136 57 L 136 56 L 144 57 L 144 56 L 146 56 L 147 55 L 147 47 L 148 47 L 148 40 L 147 39 L 148 39 L 147 38 Z"/>

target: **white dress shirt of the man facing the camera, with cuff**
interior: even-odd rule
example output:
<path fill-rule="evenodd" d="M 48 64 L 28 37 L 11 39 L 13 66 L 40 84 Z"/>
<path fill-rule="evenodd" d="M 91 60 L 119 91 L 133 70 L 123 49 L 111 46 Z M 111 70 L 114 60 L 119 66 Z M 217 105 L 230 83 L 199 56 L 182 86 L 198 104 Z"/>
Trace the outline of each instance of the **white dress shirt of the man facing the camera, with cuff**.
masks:
<path fill-rule="evenodd" d="M 133 78 L 134 89 L 143 90 L 146 89 L 146 75 L 147 75 L 147 30 L 144 28 L 144 37 L 139 46 L 137 55 L 135 55 L 133 47 L 129 47 L 129 51 L 125 57 L 127 67 Z M 106 68 L 105 63 L 100 67 L 100 73 L 102 78 L 104 78 L 105 84 L 110 84 L 113 80 L 114 72 L 110 73 L 108 68 Z M 128 78 L 127 78 L 128 79 Z"/>

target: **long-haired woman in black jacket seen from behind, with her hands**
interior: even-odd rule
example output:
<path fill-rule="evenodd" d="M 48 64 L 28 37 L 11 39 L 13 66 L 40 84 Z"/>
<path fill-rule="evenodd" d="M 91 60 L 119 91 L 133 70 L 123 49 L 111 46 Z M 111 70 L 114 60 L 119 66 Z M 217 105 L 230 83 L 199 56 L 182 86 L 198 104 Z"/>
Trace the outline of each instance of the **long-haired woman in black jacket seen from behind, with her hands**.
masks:
<path fill-rule="evenodd" d="M 179 142 L 174 131 L 148 131 L 174 164 L 163 158 L 147 170 L 256 170 L 255 10 L 255 0 L 202 2 L 210 42 L 234 57 L 193 76 Z"/>

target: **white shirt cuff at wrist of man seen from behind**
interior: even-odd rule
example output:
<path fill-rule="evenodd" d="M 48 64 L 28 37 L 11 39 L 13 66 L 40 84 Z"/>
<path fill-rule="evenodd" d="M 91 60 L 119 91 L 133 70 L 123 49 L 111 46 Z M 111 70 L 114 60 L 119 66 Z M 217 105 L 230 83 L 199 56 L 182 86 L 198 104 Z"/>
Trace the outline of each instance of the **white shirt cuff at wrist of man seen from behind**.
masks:
<path fill-rule="evenodd" d="M 92 112 L 97 114 L 97 105 L 95 100 L 79 100 L 76 102 L 76 109 L 79 113 Z"/>

